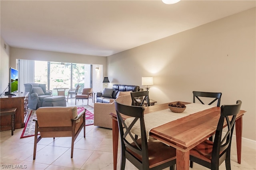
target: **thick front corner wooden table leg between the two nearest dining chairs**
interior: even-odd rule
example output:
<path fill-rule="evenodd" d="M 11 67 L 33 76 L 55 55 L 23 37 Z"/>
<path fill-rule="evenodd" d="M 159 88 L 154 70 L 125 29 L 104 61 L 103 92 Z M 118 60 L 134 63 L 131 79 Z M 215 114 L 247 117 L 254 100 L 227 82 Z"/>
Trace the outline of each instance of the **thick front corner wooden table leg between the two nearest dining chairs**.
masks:
<path fill-rule="evenodd" d="M 176 170 L 189 170 L 189 150 L 182 152 L 176 149 Z"/>

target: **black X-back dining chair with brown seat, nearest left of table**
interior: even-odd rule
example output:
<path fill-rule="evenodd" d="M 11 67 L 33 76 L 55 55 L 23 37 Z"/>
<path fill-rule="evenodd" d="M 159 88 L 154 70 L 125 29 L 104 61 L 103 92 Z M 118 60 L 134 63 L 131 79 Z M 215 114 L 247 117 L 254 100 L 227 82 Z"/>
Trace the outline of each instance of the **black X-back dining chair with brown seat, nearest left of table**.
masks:
<path fill-rule="evenodd" d="M 124 170 L 126 159 L 139 170 L 160 170 L 167 167 L 174 170 L 176 164 L 176 149 L 152 137 L 149 137 L 147 141 L 144 123 L 144 107 L 123 105 L 115 100 L 115 108 L 121 138 L 120 170 Z M 126 124 L 121 113 L 134 117 L 130 125 Z M 136 121 L 140 123 L 141 137 L 139 139 L 135 139 L 130 131 Z"/>

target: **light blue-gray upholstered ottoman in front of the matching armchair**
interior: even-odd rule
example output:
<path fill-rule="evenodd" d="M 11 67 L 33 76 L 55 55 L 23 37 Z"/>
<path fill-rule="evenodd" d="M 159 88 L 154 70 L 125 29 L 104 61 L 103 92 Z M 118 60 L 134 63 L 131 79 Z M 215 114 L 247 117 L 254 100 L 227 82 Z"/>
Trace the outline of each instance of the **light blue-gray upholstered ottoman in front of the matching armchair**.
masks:
<path fill-rule="evenodd" d="M 66 97 L 65 96 L 52 96 L 44 98 L 42 107 L 66 107 Z"/>

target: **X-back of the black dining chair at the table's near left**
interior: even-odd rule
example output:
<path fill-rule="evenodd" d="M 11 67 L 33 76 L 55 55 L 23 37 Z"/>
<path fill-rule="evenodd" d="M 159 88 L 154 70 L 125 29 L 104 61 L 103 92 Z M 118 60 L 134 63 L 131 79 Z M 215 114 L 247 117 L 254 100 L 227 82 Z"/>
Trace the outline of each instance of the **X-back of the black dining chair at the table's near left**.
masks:
<path fill-rule="evenodd" d="M 148 167 L 149 166 L 148 143 L 147 143 L 147 137 L 146 137 L 145 124 L 144 124 L 144 107 L 128 106 L 128 105 L 120 104 L 116 102 L 116 100 L 114 101 L 115 101 L 114 103 L 116 108 L 116 114 L 118 118 L 118 128 L 120 131 L 122 152 L 125 152 L 124 155 L 126 155 L 127 158 L 133 157 L 133 159 L 136 159 L 136 156 L 134 156 L 134 154 L 140 155 L 142 157 L 142 162 L 144 166 Z M 126 125 L 126 123 L 122 119 L 121 114 L 134 117 L 134 120 L 129 126 Z M 134 138 L 134 135 L 130 132 L 130 129 L 133 127 L 136 121 L 140 122 L 140 131 L 141 131 L 141 138 L 140 138 L 141 140 L 138 140 L 138 141 L 136 141 L 136 139 Z"/>

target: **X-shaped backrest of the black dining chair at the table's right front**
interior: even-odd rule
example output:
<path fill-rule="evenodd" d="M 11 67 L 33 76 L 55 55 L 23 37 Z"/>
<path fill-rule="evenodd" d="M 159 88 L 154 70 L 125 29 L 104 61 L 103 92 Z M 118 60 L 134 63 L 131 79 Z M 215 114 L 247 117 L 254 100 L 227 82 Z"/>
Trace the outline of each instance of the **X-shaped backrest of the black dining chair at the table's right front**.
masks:
<path fill-rule="evenodd" d="M 214 143 L 212 148 L 212 162 L 211 166 L 219 166 L 220 155 L 225 156 L 230 154 L 231 139 L 236 121 L 236 115 L 239 113 L 242 102 L 236 101 L 234 105 L 222 105 L 220 108 L 220 119 L 216 129 Z M 231 117 L 229 117 L 231 116 Z M 231 118 L 231 119 L 230 119 Z M 222 134 L 224 121 L 227 123 L 227 132 Z M 225 134 L 225 135 L 224 135 Z M 222 137 L 224 135 L 224 137 Z M 221 154 L 220 154 L 221 153 Z"/>

